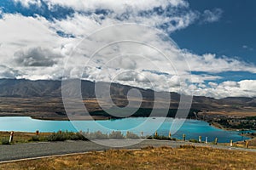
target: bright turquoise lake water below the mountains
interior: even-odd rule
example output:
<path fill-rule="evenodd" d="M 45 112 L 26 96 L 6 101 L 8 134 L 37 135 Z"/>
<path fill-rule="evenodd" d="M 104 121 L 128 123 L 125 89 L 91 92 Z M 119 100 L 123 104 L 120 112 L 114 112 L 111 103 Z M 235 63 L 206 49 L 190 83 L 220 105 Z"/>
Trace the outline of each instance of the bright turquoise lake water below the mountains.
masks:
<path fill-rule="evenodd" d="M 143 122 L 148 121 L 149 123 L 138 130 L 134 127 L 138 127 Z M 161 124 L 157 132 L 160 135 L 168 136 L 170 127 L 174 119 L 166 118 L 165 122 Z M 158 123 L 163 121 L 163 118 L 146 118 L 146 117 L 137 117 L 137 118 L 125 118 L 118 120 L 106 120 L 106 121 L 74 121 L 76 127 L 79 127 L 79 130 L 85 132 L 96 132 L 98 130 L 102 133 L 110 133 L 113 130 L 119 130 L 125 133 L 127 130 L 140 134 L 143 132 L 143 135 L 151 135 L 152 127 L 157 127 Z M 32 119 L 31 117 L 0 117 L 0 131 L 19 131 L 19 132 L 35 132 L 39 130 L 40 132 L 57 132 L 62 131 L 73 131 L 78 132 L 72 122 L 68 121 L 42 121 Z M 97 125 L 97 126 L 96 126 Z M 102 128 L 99 128 L 102 127 Z M 177 131 L 177 133 L 172 134 L 173 138 L 182 139 L 183 133 L 186 134 L 186 139 L 198 139 L 199 136 L 202 137 L 202 140 L 208 138 L 208 142 L 213 141 L 215 138 L 218 138 L 218 142 L 230 142 L 230 139 L 233 139 L 234 142 L 248 139 L 247 137 L 242 137 L 239 135 L 239 131 L 224 131 L 216 127 L 210 126 L 207 122 L 197 121 L 197 120 L 186 120 L 183 123 L 183 126 Z"/>

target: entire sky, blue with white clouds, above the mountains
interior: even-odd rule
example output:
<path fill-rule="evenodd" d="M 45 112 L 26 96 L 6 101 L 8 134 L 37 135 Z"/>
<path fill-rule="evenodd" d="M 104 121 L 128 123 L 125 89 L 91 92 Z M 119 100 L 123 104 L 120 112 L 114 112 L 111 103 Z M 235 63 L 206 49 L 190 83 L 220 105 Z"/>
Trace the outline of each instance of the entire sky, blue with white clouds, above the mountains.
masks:
<path fill-rule="evenodd" d="M 1 0 L 0 78 L 256 97 L 255 30 L 253 0 Z"/>

